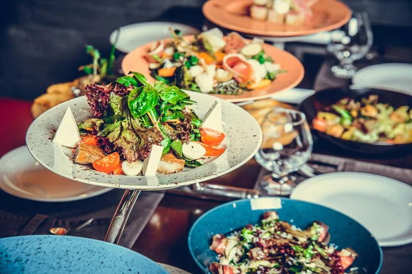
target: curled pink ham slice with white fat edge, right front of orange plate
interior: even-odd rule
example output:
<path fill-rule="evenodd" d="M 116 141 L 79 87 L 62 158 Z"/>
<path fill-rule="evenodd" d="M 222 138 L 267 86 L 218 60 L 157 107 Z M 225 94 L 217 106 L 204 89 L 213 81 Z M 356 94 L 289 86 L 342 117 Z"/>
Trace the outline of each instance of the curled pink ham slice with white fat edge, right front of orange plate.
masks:
<path fill-rule="evenodd" d="M 240 54 L 228 54 L 223 58 L 223 67 L 233 73 L 233 78 L 238 83 L 254 80 L 255 71 L 247 59 Z"/>

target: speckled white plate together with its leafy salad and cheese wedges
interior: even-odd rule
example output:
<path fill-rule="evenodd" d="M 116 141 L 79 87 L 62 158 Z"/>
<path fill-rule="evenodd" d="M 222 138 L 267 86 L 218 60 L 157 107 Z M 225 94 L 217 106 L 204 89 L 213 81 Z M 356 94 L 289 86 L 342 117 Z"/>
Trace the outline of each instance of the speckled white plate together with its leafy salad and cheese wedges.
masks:
<path fill-rule="evenodd" d="M 87 86 L 38 117 L 26 143 L 47 169 L 111 188 L 163 190 L 218 177 L 251 159 L 260 126 L 238 105 L 141 73 Z"/>

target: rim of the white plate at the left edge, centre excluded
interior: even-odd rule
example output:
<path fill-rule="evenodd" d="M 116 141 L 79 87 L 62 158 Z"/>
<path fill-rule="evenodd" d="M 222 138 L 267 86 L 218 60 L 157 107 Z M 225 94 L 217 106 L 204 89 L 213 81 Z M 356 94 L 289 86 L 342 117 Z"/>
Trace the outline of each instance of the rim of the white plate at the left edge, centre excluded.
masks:
<path fill-rule="evenodd" d="M 25 146 L 25 145 L 21 146 L 21 147 L 18 147 L 16 149 L 13 149 L 12 151 L 9 151 L 8 153 L 5 153 L 0 158 L 0 174 L 1 175 L 3 174 L 4 162 L 6 162 L 8 160 L 8 158 L 10 158 L 10 157 L 12 157 L 16 154 L 20 154 L 20 153 L 27 153 L 27 156 L 30 155 L 30 157 L 32 157 L 32 155 L 30 154 L 30 151 L 27 149 L 27 146 Z M 36 161 L 35 159 L 33 159 L 33 160 Z M 110 190 L 113 190 L 113 188 L 102 188 L 102 187 L 96 186 L 95 188 L 93 188 L 91 190 L 88 190 L 87 192 L 85 192 L 83 194 L 76 195 L 76 196 L 53 198 L 53 197 L 42 197 L 41 195 L 24 195 L 23 192 L 19 192 L 17 190 L 10 189 L 10 187 L 8 186 L 8 183 L 4 182 L 3 177 L 0 177 L 0 188 L 4 192 L 7 192 L 8 194 L 10 194 L 14 197 L 19 197 L 19 198 L 22 198 L 22 199 L 27 199 L 27 200 L 32 200 L 32 201 L 46 201 L 46 202 L 79 201 L 79 200 L 95 197 L 95 196 L 98 196 L 98 195 L 102 195 L 106 192 L 109 192 Z"/>

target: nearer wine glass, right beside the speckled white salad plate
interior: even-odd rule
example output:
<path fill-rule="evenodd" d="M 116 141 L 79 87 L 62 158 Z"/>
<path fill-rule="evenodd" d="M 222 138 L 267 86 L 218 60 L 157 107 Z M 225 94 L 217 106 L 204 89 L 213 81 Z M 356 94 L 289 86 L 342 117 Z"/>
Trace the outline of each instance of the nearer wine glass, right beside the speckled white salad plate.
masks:
<path fill-rule="evenodd" d="M 290 195 L 295 186 L 290 173 L 298 171 L 312 153 L 312 134 L 304 113 L 273 108 L 262 123 L 263 142 L 255 159 L 271 175 L 260 182 L 268 195 Z"/>

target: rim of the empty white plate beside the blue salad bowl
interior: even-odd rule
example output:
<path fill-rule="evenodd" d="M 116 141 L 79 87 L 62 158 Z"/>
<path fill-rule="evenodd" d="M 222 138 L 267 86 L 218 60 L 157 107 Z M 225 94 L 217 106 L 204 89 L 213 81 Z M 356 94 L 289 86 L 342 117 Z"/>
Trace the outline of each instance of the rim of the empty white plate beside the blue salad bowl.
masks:
<path fill-rule="evenodd" d="M 300 184 L 297 185 L 296 188 L 293 189 L 292 194 L 290 195 L 290 199 L 296 199 L 296 200 L 301 200 L 301 201 L 308 201 L 310 203 L 317 203 L 321 206 L 325 206 L 322 203 L 318 203 L 317 201 L 312 201 L 310 199 L 306 199 L 309 195 L 310 192 L 315 191 L 316 187 L 312 187 L 311 184 L 312 182 L 316 182 L 317 179 L 319 178 L 325 178 L 325 177 L 367 177 L 369 179 L 379 179 L 379 180 L 385 180 L 387 181 L 386 184 L 393 184 L 393 188 L 396 188 L 397 186 L 399 188 L 404 188 L 404 190 L 409 190 L 409 192 L 412 192 L 412 186 L 410 186 L 409 184 L 405 184 L 403 182 L 398 181 L 397 179 L 392 179 L 389 177 L 385 177 L 385 176 L 381 176 L 381 175 L 375 175 L 375 174 L 370 174 L 370 173 L 361 173 L 361 172 L 336 172 L 336 173 L 326 173 L 326 174 L 322 174 L 322 175 L 317 175 L 315 177 L 310 177 L 306 180 L 304 180 L 304 182 L 301 182 Z M 331 179 L 332 179 L 331 178 Z M 320 184 L 320 183 L 319 183 Z M 323 183 L 324 184 L 324 183 Z M 312 190 L 310 190 L 310 188 L 313 188 Z M 402 192 L 402 190 L 400 190 L 400 192 Z M 328 207 L 328 206 L 325 206 Z M 328 207 L 329 208 L 329 207 Z M 339 210 L 338 208 L 332 208 L 333 210 L 339 211 L 347 216 L 348 215 L 346 212 Z M 352 218 L 352 216 L 350 216 L 350 218 Z M 360 220 L 357 220 L 359 223 L 361 223 Z M 362 224 L 362 223 L 361 223 Z M 364 226 L 364 225 L 363 225 Z M 365 227 L 365 226 L 364 226 Z M 366 227 L 365 227 L 366 228 Z M 402 236 L 402 235 L 400 235 Z M 378 241 L 380 247 L 397 247 L 400 245 L 407 245 L 409 243 L 412 242 L 412 234 L 410 236 L 405 235 L 403 238 L 401 238 L 400 240 L 380 240 L 378 237 L 375 237 L 376 240 Z M 392 237 L 393 238 L 393 237 Z"/>

